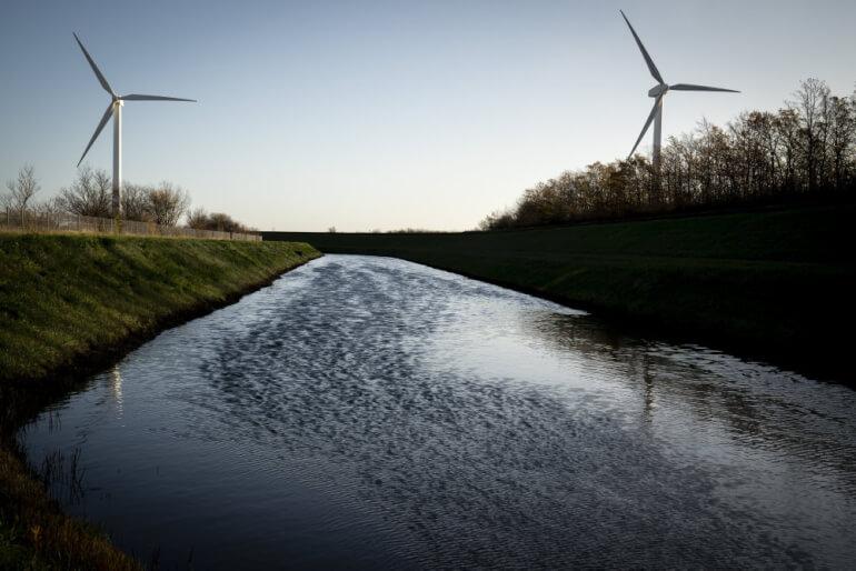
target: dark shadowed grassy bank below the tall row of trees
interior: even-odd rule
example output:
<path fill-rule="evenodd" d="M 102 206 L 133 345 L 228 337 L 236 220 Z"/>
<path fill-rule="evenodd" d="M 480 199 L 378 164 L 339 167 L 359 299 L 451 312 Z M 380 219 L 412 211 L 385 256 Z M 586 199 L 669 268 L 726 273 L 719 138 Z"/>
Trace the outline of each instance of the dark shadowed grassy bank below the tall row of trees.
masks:
<path fill-rule="evenodd" d="M 853 204 L 506 232 L 292 233 L 536 293 L 853 383 Z"/>

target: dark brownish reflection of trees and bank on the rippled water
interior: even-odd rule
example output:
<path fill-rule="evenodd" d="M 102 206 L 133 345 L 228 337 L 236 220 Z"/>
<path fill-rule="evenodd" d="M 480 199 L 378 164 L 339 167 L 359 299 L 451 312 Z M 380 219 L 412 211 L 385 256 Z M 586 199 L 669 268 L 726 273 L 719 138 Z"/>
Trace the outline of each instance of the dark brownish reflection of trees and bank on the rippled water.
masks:
<path fill-rule="evenodd" d="M 810 451 L 815 459 L 823 451 L 840 458 L 843 447 L 856 452 L 850 438 L 856 433 L 855 399 L 846 387 L 817 383 L 701 347 L 605 333 L 604 325 L 589 318 L 543 314 L 520 324 L 556 354 L 584 353 L 588 362 L 608 367 L 610 379 L 637 387 L 648 421 L 655 420 L 659 401 L 669 404 L 660 407 L 666 418 L 680 409 L 753 444 L 790 447 L 789 453 Z M 786 428 L 794 423 L 799 430 Z"/>

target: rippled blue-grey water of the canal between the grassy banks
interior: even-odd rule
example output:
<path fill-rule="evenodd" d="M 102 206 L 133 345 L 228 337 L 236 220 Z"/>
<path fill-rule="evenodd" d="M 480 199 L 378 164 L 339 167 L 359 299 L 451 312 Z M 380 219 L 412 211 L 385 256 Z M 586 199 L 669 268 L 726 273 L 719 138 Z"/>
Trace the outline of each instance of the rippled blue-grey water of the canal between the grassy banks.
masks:
<path fill-rule="evenodd" d="M 167 331 L 21 438 L 163 569 L 856 565 L 856 391 L 386 258 Z"/>

